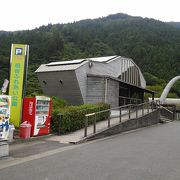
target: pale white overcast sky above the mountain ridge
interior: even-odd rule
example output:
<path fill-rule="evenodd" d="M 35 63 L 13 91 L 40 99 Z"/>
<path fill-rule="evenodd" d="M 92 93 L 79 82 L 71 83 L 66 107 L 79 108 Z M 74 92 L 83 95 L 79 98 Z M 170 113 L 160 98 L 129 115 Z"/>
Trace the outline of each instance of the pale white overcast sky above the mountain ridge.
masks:
<path fill-rule="evenodd" d="M 115 13 L 180 22 L 180 0 L 2 0 L 0 30 L 34 29 Z"/>

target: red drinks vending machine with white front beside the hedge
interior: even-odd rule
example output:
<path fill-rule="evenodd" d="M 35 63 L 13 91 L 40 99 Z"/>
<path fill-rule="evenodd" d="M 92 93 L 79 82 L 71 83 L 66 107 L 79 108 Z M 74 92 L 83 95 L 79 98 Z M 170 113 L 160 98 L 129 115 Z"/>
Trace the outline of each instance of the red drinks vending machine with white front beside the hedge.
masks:
<path fill-rule="evenodd" d="M 52 100 L 45 96 L 23 99 L 22 121 L 31 126 L 31 136 L 49 134 L 51 122 Z"/>

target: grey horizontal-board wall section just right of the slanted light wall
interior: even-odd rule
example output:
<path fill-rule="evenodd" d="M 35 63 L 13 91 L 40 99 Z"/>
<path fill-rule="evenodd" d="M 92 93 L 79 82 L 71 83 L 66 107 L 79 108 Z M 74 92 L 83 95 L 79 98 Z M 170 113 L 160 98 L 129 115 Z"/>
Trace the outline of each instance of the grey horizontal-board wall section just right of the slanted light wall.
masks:
<path fill-rule="evenodd" d="M 102 77 L 87 77 L 86 103 L 105 101 L 105 79 Z"/>

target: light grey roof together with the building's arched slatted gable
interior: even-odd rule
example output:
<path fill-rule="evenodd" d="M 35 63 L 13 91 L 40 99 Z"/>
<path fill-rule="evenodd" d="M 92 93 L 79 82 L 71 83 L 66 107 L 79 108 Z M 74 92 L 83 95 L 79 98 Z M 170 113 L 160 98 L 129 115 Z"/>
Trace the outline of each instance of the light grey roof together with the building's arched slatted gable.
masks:
<path fill-rule="evenodd" d="M 86 74 L 109 75 L 119 78 L 143 88 L 146 87 L 146 81 L 139 67 L 130 58 L 122 56 L 106 56 L 95 58 L 76 59 L 71 61 L 51 62 L 42 64 L 36 73 L 56 72 L 56 71 L 81 71 L 85 68 Z"/>

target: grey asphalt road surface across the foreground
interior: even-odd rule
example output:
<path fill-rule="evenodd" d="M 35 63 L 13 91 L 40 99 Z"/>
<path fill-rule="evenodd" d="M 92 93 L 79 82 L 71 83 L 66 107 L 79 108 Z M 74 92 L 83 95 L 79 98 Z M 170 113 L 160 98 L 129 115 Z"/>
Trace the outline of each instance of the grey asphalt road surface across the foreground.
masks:
<path fill-rule="evenodd" d="M 179 180 L 180 122 L 0 161 L 0 179 Z"/>

